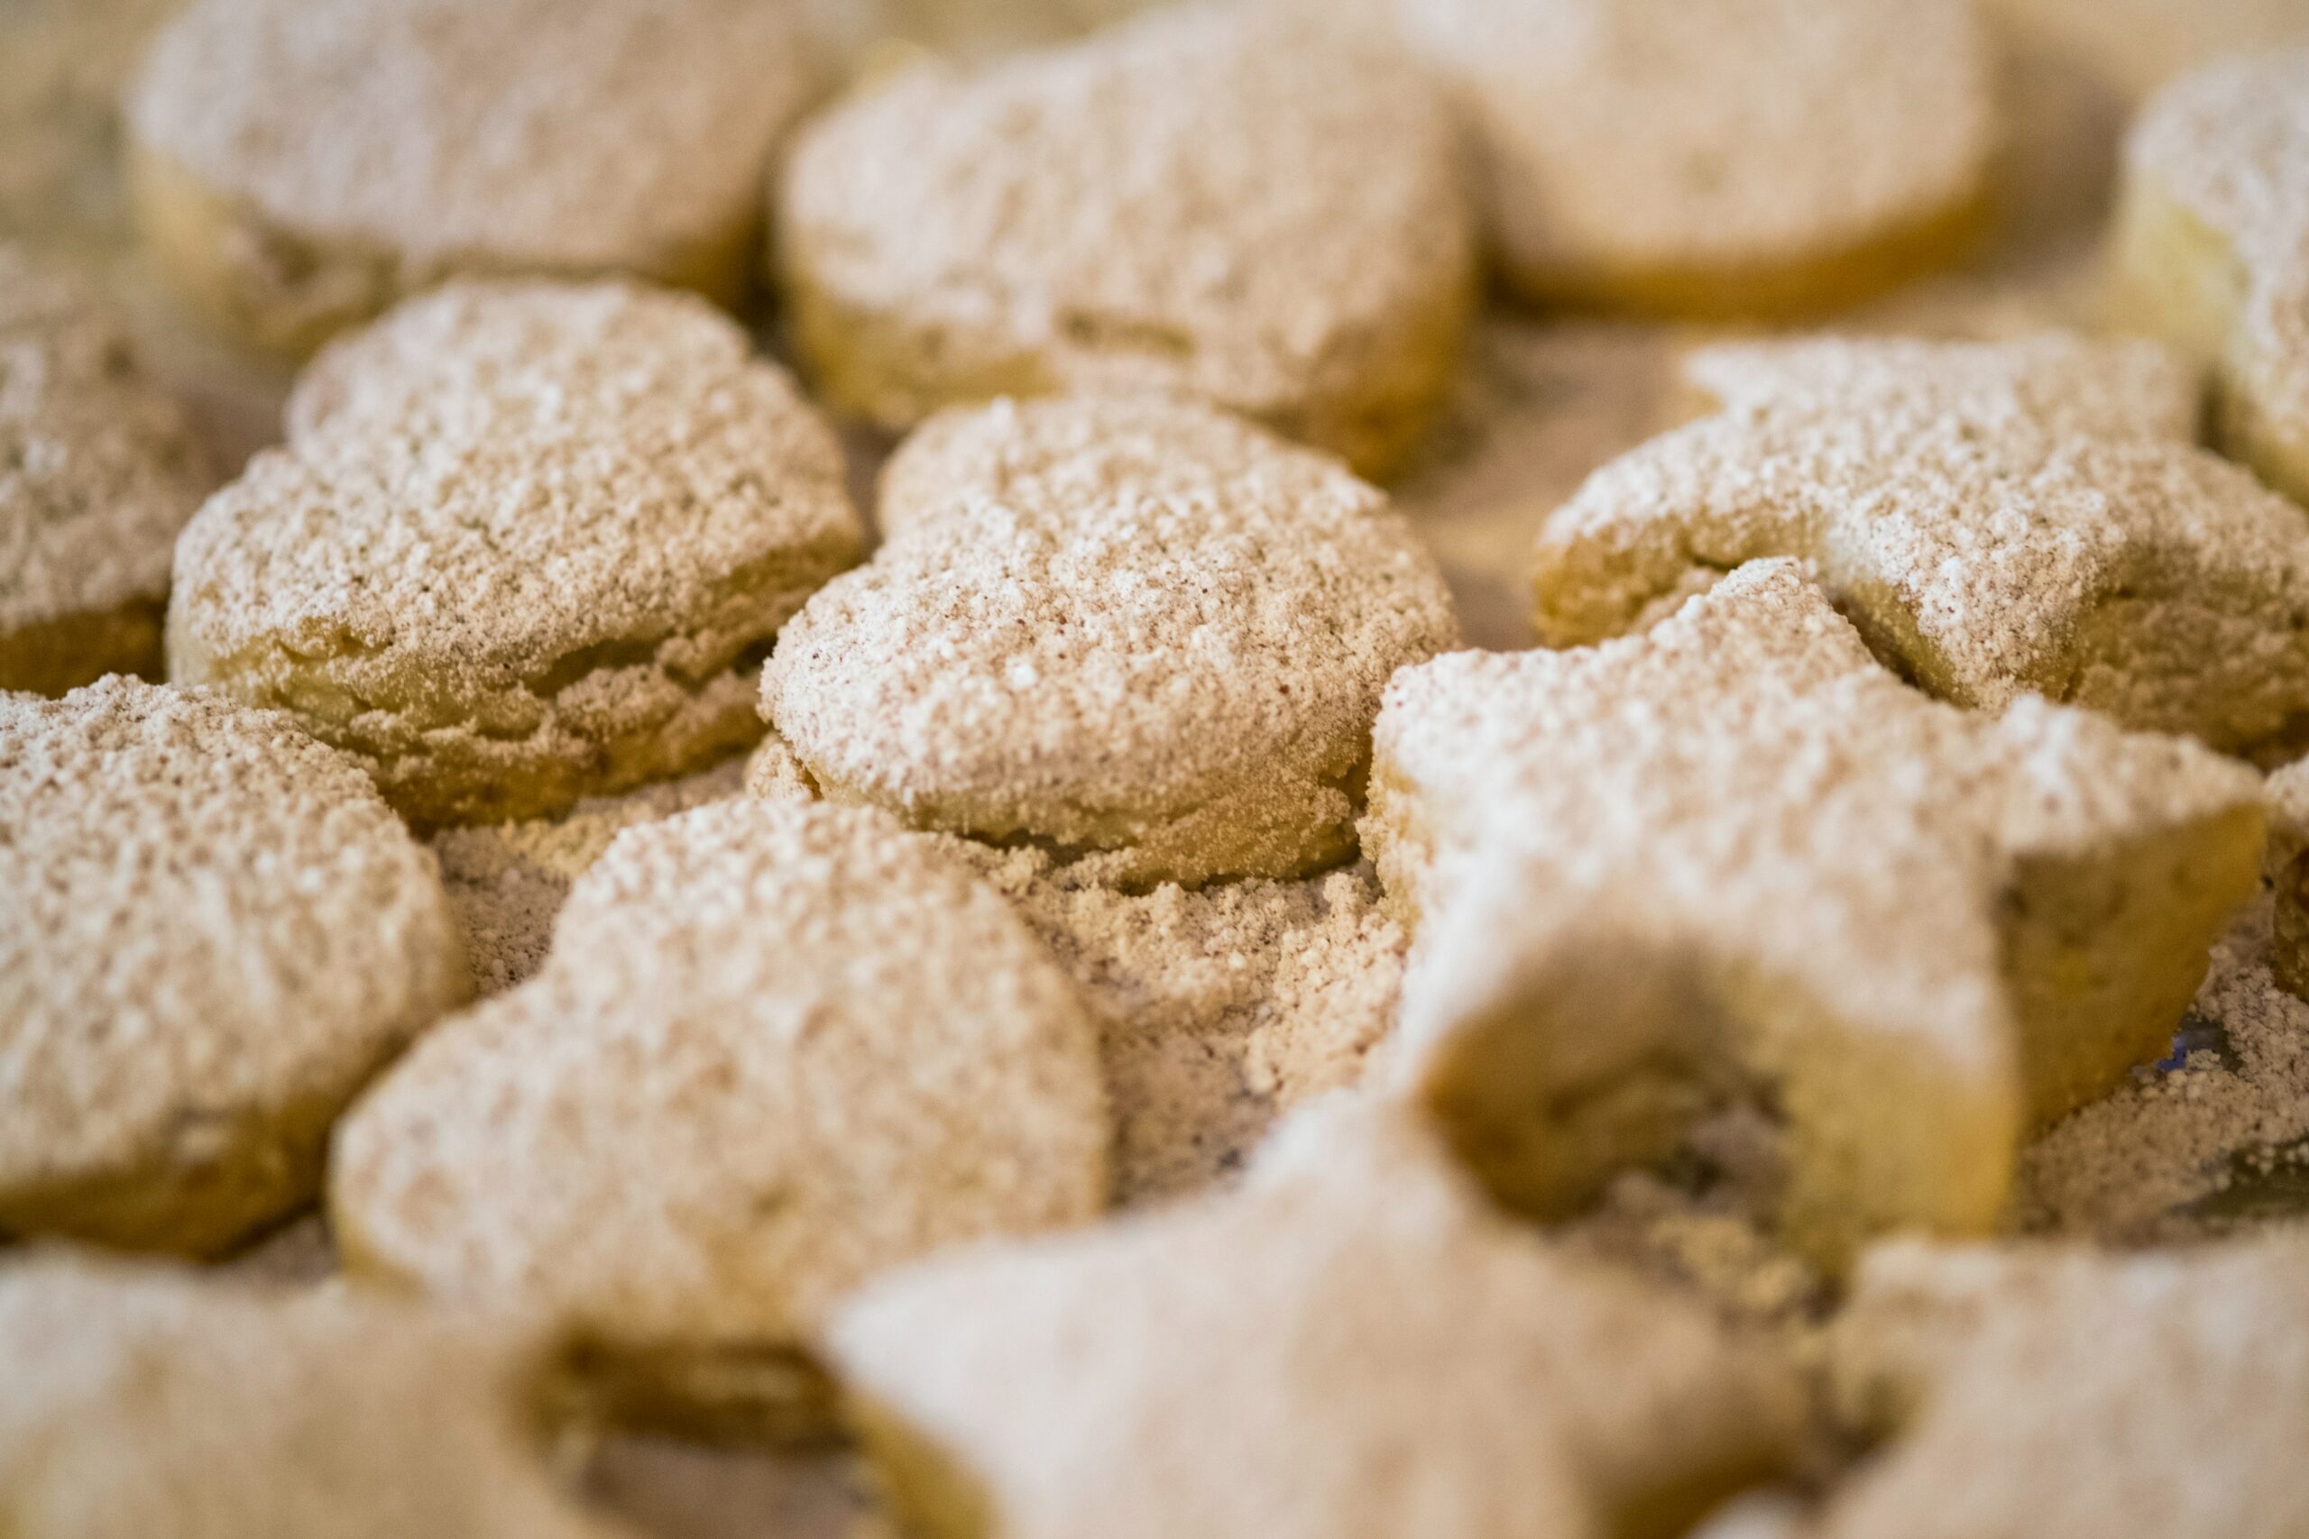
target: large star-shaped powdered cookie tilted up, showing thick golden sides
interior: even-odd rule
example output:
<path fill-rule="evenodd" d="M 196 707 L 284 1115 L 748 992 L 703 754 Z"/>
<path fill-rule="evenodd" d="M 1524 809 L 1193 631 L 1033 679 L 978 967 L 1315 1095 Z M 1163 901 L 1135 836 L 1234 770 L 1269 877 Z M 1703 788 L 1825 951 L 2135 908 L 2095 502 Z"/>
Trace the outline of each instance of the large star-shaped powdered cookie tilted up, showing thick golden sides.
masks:
<path fill-rule="evenodd" d="M 1561 1211 L 1759 1094 L 1783 1232 L 1979 1232 L 2013 1142 L 2157 1059 L 2254 891 L 2258 778 L 1886 674 L 1792 563 L 1644 637 L 1397 676 L 1365 842 L 1420 923 L 1406 1082 Z"/>

